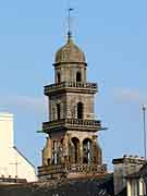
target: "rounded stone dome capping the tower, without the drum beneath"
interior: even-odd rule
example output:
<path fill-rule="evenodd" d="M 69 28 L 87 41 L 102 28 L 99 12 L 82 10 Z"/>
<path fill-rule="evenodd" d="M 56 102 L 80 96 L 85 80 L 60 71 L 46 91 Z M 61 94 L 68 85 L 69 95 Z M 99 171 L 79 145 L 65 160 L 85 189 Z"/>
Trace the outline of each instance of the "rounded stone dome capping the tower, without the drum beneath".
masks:
<path fill-rule="evenodd" d="M 86 58 L 73 39 L 69 37 L 66 44 L 57 51 L 56 63 L 86 63 Z"/>

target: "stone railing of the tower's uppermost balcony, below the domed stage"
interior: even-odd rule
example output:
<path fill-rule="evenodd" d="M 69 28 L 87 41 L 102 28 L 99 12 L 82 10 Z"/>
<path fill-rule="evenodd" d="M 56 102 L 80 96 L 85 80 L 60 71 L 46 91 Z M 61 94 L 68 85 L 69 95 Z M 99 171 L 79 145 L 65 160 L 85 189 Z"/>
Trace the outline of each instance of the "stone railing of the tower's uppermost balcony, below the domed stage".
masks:
<path fill-rule="evenodd" d="M 48 86 L 45 86 L 45 95 L 48 95 L 54 90 L 69 88 L 72 90 L 78 90 L 78 89 L 87 89 L 90 91 L 97 91 L 98 85 L 97 83 L 81 83 L 81 82 L 62 82 L 62 83 L 56 83 Z"/>

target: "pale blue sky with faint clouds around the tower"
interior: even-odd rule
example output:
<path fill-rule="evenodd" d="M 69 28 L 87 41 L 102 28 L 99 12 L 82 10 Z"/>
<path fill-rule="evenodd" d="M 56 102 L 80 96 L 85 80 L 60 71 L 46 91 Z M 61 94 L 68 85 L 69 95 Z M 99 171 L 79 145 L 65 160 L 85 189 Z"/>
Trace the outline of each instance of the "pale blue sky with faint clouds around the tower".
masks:
<path fill-rule="evenodd" d="M 97 82 L 96 118 L 103 162 L 144 156 L 142 105 L 147 105 L 147 1 L 71 0 L 72 30 Z M 44 86 L 53 83 L 56 51 L 66 40 L 68 0 L 0 0 L 0 112 L 14 113 L 17 148 L 41 164 L 48 121 Z"/>

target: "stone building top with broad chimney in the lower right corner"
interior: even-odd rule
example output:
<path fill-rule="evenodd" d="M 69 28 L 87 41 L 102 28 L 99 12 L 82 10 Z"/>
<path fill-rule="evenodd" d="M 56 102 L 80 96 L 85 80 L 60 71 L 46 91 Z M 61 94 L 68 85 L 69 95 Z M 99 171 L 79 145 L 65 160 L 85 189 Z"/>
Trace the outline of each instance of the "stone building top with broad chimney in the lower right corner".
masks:
<path fill-rule="evenodd" d="M 123 156 L 123 158 L 113 159 L 115 195 L 119 195 L 123 189 L 126 189 L 125 195 L 127 196 L 145 195 L 145 183 L 140 172 L 145 163 L 145 158 L 138 156 Z"/>

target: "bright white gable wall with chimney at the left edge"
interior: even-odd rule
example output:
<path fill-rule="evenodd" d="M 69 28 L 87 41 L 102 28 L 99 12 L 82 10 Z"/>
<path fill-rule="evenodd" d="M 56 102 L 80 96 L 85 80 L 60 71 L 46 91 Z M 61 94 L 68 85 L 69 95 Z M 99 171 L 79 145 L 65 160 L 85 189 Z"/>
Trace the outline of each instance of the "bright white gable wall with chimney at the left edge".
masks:
<path fill-rule="evenodd" d="M 36 181 L 34 166 L 14 147 L 13 114 L 0 113 L 0 176 Z"/>

